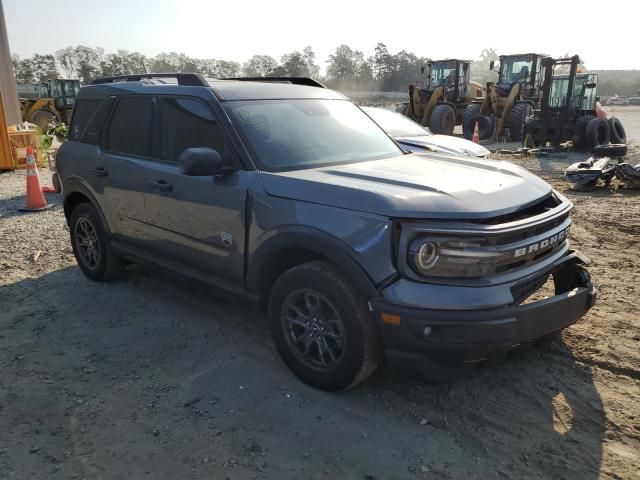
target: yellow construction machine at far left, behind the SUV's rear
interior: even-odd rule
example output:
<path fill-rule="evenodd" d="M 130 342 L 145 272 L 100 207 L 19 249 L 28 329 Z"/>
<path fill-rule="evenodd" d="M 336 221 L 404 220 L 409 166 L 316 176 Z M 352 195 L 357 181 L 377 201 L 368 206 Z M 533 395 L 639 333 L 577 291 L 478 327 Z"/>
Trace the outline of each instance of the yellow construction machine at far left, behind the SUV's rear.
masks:
<path fill-rule="evenodd" d="M 54 79 L 46 82 L 18 85 L 22 120 L 46 131 L 51 122 L 69 123 L 79 80 Z"/>

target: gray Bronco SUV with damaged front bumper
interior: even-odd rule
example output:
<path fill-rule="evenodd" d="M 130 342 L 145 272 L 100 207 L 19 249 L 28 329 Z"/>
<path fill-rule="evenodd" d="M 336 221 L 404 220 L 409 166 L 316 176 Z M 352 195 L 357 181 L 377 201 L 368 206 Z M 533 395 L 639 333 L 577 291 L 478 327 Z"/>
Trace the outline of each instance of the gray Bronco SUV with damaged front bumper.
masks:
<path fill-rule="evenodd" d="M 97 80 L 57 170 L 87 277 L 135 262 L 244 297 L 326 390 L 383 363 L 446 380 L 595 301 L 560 193 L 509 163 L 406 154 L 310 79 Z"/>

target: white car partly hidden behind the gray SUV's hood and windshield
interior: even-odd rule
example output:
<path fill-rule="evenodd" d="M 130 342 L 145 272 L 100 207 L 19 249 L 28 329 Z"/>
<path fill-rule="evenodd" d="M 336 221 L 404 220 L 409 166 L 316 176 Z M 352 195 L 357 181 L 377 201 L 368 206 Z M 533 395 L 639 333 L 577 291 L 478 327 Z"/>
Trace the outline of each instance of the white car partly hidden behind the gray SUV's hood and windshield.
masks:
<path fill-rule="evenodd" d="M 404 115 L 378 107 L 362 107 L 385 132 L 405 150 L 440 152 L 469 157 L 489 158 L 490 151 L 464 138 L 436 135 Z"/>

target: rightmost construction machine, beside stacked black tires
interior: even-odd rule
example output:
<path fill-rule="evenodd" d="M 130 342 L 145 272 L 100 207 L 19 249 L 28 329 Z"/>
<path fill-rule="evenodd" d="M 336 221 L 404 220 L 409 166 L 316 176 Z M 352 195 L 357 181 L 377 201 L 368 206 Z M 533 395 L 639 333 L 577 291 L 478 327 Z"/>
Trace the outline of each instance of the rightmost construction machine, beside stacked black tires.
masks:
<path fill-rule="evenodd" d="M 542 100 L 527 120 L 525 143 L 555 146 L 571 141 L 578 149 L 592 150 L 609 141 L 626 143 L 617 118 L 598 118 L 596 113 L 598 75 L 588 73 L 580 57 L 544 59 Z"/>

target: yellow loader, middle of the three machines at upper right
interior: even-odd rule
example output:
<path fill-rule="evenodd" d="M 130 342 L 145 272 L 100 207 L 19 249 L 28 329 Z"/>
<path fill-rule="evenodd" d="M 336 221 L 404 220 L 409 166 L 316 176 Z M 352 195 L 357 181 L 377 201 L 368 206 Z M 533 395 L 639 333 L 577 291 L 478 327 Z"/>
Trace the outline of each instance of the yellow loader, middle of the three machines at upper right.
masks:
<path fill-rule="evenodd" d="M 509 129 L 511 140 L 522 140 L 525 119 L 538 106 L 542 95 L 543 60 L 547 55 L 526 53 L 499 57 L 498 81 L 487 82 L 487 94 L 463 112 L 462 130 L 470 139 L 476 123 L 481 140 L 502 136 Z M 495 62 L 489 64 L 495 70 Z"/>

